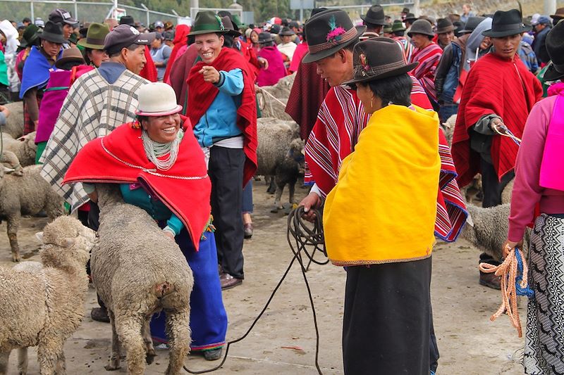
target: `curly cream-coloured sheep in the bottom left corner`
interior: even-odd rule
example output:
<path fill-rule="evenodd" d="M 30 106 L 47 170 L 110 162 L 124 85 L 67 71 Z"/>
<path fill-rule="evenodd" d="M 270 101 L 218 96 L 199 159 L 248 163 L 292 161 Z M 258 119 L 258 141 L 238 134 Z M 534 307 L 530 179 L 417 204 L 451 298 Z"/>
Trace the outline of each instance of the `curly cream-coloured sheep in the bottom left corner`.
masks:
<path fill-rule="evenodd" d="M 70 216 L 38 234 L 41 263 L 0 267 L 0 374 L 11 350 L 20 351 L 18 374 L 27 373 L 27 347 L 37 346 L 41 374 L 64 374 L 63 345 L 84 315 L 86 263 L 96 234 Z"/>

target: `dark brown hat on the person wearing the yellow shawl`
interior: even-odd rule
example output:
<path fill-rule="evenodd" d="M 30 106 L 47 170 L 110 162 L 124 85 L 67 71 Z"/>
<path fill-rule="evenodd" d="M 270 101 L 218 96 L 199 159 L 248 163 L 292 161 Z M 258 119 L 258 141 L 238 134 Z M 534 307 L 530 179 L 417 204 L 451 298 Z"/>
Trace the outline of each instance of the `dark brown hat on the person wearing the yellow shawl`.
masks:
<path fill-rule="evenodd" d="M 368 39 L 355 45 L 353 51 L 355 75 L 353 80 L 345 84 L 382 80 L 402 75 L 418 64 L 418 62 L 405 63 L 403 50 L 393 39 L 381 37 Z"/>

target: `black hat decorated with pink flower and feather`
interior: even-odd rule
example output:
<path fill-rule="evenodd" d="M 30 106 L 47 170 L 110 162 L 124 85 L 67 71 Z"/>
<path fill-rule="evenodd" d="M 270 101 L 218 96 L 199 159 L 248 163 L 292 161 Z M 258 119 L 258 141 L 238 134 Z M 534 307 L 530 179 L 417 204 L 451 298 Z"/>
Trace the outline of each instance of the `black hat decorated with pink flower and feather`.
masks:
<path fill-rule="evenodd" d="M 304 25 L 308 52 L 302 61 L 313 63 L 331 56 L 356 42 L 365 31 L 366 26 L 353 26 L 353 21 L 341 9 L 328 9 L 317 13 Z"/>

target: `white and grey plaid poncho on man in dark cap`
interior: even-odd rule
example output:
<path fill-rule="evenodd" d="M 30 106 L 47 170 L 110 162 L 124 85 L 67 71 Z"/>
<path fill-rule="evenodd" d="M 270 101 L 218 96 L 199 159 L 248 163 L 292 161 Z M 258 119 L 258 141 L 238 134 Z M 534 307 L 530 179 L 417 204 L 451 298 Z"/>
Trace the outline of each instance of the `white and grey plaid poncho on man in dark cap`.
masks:
<path fill-rule="evenodd" d="M 75 210 L 88 201 L 82 184 L 62 185 L 63 177 L 80 148 L 92 139 L 109 134 L 119 125 L 135 120 L 137 91 L 148 83 L 124 70 L 109 84 L 97 70 L 75 81 L 63 103 L 40 162 L 41 175 Z"/>

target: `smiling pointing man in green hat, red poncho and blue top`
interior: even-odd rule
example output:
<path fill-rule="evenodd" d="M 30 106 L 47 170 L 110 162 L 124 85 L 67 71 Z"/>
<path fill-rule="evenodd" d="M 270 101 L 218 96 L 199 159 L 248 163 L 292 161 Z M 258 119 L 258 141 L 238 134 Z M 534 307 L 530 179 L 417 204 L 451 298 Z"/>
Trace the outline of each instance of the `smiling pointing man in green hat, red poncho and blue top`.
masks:
<path fill-rule="evenodd" d="M 222 48 L 227 32 L 219 16 L 197 13 L 190 36 L 201 61 L 188 75 L 187 113 L 209 158 L 223 289 L 239 286 L 245 277 L 241 196 L 257 168 L 255 77 L 238 51 Z"/>

